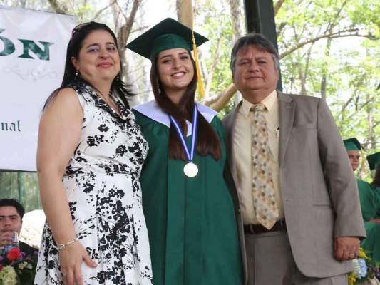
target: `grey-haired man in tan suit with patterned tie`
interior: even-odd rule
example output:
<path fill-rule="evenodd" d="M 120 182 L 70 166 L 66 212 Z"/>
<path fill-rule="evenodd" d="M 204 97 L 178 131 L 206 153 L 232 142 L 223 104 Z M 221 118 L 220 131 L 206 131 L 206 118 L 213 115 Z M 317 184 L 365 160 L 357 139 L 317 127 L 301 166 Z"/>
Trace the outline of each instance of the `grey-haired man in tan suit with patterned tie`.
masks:
<path fill-rule="evenodd" d="M 231 69 L 243 99 L 223 124 L 244 224 L 247 284 L 346 285 L 365 231 L 356 180 L 327 104 L 276 90 L 279 57 L 260 34 L 235 43 Z M 259 156 L 251 145 L 251 110 L 258 104 L 265 106 L 262 145 L 269 152 L 267 162 L 260 162 L 269 166 L 264 186 L 252 162 Z M 265 209 L 270 217 L 258 215 L 263 207 L 257 185 L 272 188 L 266 198 L 274 207 Z M 273 225 L 266 223 L 273 218 Z"/>

